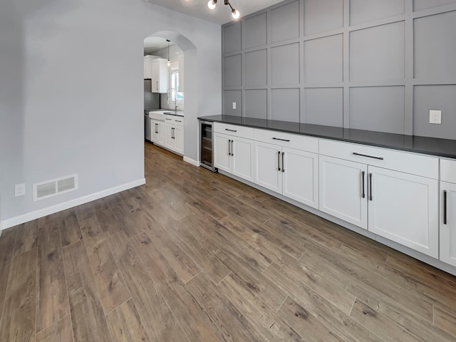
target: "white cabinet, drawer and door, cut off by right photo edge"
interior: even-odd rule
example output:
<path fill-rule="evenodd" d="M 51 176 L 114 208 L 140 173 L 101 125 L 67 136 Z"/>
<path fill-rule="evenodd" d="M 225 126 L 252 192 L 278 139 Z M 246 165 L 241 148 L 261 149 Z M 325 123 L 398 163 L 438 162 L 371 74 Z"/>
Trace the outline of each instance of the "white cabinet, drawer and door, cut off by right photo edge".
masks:
<path fill-rule="evenodd" d="M 456 160 L 440 160 L 440 260 L 456 266 Z"/>

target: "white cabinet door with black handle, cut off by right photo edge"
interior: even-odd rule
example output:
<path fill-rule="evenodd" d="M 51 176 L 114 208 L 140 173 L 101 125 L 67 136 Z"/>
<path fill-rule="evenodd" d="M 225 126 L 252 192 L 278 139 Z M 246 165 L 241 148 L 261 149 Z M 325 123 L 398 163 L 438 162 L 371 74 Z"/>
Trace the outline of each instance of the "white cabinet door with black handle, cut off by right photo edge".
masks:
<path fill-rule="evenodd" d="M 440 260 L 456 266 L 456 184 L 440 182 Z"/>

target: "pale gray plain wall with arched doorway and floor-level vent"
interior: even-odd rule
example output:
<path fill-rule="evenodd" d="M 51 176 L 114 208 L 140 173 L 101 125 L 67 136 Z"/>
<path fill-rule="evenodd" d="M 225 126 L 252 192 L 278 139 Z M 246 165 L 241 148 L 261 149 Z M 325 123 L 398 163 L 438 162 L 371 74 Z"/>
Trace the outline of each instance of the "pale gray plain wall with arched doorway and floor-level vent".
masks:
<path fill-rule="evenodd" d="M 197 160 L 197 116 L 221 113 L 220 26 L 141 0 L 2 1 L 4 227 L 143 179 L 143 39 L 157 31 L 182 34 L 196 47 L 185 55 L 195 66 L 187 68 L 188 78 L 186 72 L 186 95 L 193 98 L 185 155 Z M 77 191 L 33 202 L 33 183 L 73 173 Z M 26 196 L 14 197 L 21 182 Z"/>

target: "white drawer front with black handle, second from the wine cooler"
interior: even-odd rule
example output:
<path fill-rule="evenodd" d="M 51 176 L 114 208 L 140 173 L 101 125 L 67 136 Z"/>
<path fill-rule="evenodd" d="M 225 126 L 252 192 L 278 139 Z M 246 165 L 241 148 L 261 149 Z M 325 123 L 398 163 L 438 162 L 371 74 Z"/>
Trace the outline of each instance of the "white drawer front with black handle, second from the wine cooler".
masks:
<path fill-rule="evenodd" d="M 255 140 L 318 153 L 318 138 L 305 135 L 276 132 L 274 130 L 255 130 Z"/>

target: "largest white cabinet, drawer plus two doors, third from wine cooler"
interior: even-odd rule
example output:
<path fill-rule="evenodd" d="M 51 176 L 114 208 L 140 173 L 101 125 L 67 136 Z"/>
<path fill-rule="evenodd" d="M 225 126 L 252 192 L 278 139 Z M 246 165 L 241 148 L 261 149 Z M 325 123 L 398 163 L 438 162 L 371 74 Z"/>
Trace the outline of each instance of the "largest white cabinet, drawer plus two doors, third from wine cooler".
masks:
<path fill-rule="evenodd" d="M 323 143 L 321 152 L 341 152 L 340 144 L 344 145 Z M 432 174 L 433 179 L 369 164 L 371 160 L 377 165 L 383 160 L 401 160 L 400 155 L 388 155 L 393 151 L 370 147 L 360 154 L 356 152 L 360 147 L 352 147 L 354 152 L 346 154 L 352 160 L 320 155 L 320 210 L 438 258 L 438 160 L 396 152 L 410 158 L 407 165 L 398 162 L 399 169 L 416 167 L 416 172 Z M 352 147 L 345 144 L 342 149 Z M 431 166 L 420 167 L 427 164 Z"/>

